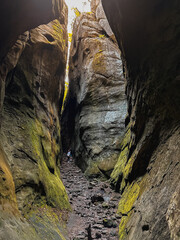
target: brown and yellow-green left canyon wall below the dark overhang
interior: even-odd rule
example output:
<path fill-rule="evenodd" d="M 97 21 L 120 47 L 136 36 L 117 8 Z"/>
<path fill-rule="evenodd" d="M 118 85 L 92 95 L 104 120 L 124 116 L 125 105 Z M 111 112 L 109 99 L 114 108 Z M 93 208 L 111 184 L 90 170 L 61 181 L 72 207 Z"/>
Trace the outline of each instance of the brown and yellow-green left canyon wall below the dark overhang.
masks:
<path fill-rule="evenodd" d="M 3 240 L 65 239 L 62 210 L 68 211 L 70 204 L 60 179 L 59 116 L 67 60 L 67 6 L 63 1 L 56 4 L 57 9 L 61 5 L 58 18 L 20 35 L 0 66 Z"/>

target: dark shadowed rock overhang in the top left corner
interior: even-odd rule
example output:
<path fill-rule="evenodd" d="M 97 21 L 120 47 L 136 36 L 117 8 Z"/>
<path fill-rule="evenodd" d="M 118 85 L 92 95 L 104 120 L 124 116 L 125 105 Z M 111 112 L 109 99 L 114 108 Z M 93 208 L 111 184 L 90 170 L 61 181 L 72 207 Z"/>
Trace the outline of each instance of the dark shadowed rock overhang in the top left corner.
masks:
<path fill-rule="evenodd" d="M 62 0 L 1 1 L 0 61 L 20 34 L 59 18 L 63 5 Z"/>

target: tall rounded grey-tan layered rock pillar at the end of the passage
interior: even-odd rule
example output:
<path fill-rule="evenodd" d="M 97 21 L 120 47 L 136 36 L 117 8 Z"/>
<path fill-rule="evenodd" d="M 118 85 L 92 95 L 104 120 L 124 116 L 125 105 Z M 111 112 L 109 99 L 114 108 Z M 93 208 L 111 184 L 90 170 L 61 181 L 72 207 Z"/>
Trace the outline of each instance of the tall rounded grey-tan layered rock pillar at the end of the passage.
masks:
<path fill-rule="evenodd" d="M 62 118 L 64 148 L 70 145 L 68 136 L 76 161 L 88 176 L 112 171 L 127 111 L 120 51 L 109 36 L 107 20 L 104 28 L 99 23 L 105 16 L 97 19 L 99 12 L 92 9 L 94 13 L 83 13 L 74 24 L 69 95 Z"/>

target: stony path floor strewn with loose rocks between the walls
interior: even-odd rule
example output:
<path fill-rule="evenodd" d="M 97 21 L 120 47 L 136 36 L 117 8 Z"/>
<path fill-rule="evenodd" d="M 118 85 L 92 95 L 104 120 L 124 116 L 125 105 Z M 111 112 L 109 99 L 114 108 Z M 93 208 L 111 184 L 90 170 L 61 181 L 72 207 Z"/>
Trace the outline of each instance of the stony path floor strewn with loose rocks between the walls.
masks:
<path fill-rule="evenodd" d="M 70 240 L 117 240 L 120 195 L 107 181 L 88 181 L 74 161 L 63 160 L 61 177 L 73 209 L 68 222 Z"/>

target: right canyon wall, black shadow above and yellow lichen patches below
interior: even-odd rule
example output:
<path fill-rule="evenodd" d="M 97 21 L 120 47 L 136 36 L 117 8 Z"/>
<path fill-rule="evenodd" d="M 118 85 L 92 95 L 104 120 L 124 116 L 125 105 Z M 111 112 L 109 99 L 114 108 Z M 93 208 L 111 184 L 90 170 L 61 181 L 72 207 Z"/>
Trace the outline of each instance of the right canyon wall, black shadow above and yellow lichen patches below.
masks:
<path fill-rule="evenodd" d="M 179 239 L 180 5 L 102 3 L 128 77 L 127 130 L 111 175 L 122 193 L 120 239 Z"/>

